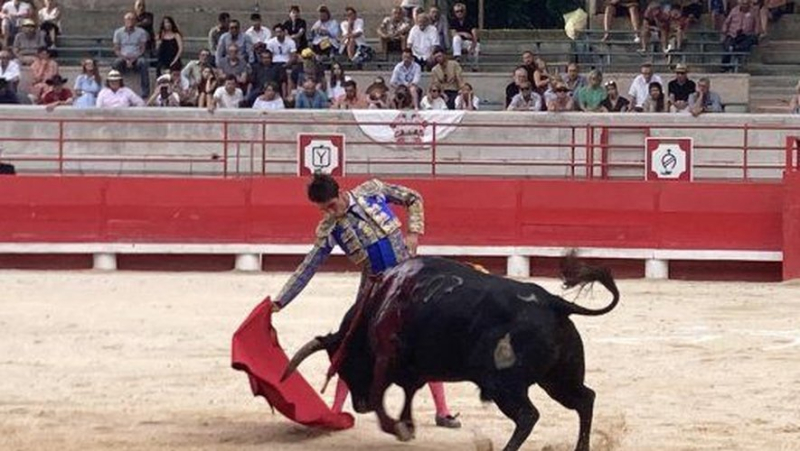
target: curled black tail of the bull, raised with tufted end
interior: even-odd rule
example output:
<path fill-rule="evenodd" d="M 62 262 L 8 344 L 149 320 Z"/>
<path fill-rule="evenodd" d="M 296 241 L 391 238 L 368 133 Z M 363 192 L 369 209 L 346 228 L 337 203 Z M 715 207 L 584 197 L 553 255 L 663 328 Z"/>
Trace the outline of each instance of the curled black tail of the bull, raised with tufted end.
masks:
<path fill-rule="evenodd" d="M 575 303 L 560 299 L 560 307 L 562 307 L 568 315 L 585 315 L 585 316 L 600 316 L 614 310 L 614 307 L 619 303 L 619 290 L 617 284 L 614 282 L 614 277 L 611 276 L 611 271 L 608 268 L 589 266 L 578 260 L 576 252 L 573 250 L 567 254 L 566 258 L 561 262 L 561 279 L 564 281 L 564 288 L 580 287 L 584 288 L 586 285 L 600 282 L 606 290 L 608 290 L 614 298 L 607 306 L 601 309 L 589 309 L 582 307 Z"/>

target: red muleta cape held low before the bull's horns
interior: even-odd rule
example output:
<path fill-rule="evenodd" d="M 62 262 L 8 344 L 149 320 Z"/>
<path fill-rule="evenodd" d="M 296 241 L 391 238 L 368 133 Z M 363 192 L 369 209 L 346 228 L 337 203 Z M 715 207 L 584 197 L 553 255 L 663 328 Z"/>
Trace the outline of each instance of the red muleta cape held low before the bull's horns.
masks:
<path fill-rule="evenodd" d="M 270 298 L 256 306 L 233 334 L 231 357 L 233 368 L 246 372 L 250 378 L 253 395 L 263 396 L 290 420 L 323 429 L 353 427 L 353 416 L 331 411 L 299 371 L 286 381 L 280 381 L 289 358 L 281 349 L 278 334 L 272 327 Z"/>

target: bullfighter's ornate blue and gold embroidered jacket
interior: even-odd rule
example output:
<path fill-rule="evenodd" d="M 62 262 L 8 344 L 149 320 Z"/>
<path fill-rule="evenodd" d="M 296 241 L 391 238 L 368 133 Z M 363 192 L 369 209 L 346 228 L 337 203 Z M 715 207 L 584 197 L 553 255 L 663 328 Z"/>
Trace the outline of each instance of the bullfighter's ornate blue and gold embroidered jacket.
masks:
<path fill-rule="evenodd" d="M 349 194 L 350 204 L 344 216 L 328 214 L 320 221 L 314 247 L 275 300 L 279 306 L 285 307 L 300 294 L 335 245 L 367 275 L 380 274 L 410 257 L 400 220 L 389 204 L 406 207 L 408 231 L 421 235 L 425 232 L 422 196 L 377 179 L 359 185 Z"/>

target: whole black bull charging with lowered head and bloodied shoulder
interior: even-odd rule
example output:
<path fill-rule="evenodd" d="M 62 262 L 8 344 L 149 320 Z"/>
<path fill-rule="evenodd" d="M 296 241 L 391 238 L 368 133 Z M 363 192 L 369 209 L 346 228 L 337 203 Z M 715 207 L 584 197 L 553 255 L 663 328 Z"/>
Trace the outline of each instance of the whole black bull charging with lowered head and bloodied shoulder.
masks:
<path fill-rule="evenodd" d="M 576 450 L 588 450 L 595 394 L 584 385 L 583 342 L 569 315 L 608 313 L 619 291 L 607 269 L 584 265 L 574 256 L 562 263 L 562 278 L 565 287 L 599 282 L 613 300 L 591 310 L 538 285 L 452 260 L 407 260 L 360 296 L 338 332 L 300 349 L 284 377 L 313 352 L 327 350 L 332 369 L 352 391 L 356 411 L 375 411 L 381 429 L 400 440 L 413 437 L 411 402 L 426 382 L 471 381 L 482 400 L 494 401 L 516 424 L 507 451 L 519 449 L 539 418 L 528 398 L 528 388 L 539 384 L 578 412 Z M 400 421 L 384 409 L 390 384 L 405 393 Z"/>

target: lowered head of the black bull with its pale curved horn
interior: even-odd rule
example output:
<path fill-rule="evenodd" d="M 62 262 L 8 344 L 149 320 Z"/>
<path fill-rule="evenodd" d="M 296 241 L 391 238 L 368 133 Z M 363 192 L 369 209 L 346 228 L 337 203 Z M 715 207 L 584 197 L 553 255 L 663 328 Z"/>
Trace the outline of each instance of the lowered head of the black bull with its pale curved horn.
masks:
<path fill-rule="evenodd" d="M 325 350 L 333 359 L 347 335 L 350 327 L 352 311 L 345 315 L 339 330 L 336 333 L 318 336 L 301 347 L 289 361 L 281 381 L 286 380 L 300 364 L 312 354 Z M 367 328 L 361 325 L 352 331 L 345 344 L 346 349 L 339 363 L 338 375 L 347 383 L 353 397 L 353 408 L 358 413 L 371 412 L 374 409 L 369 405 L 369 391 L 372 386 L 372 371 L 375 359 L 367 341 Z"/>

